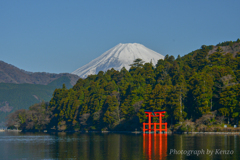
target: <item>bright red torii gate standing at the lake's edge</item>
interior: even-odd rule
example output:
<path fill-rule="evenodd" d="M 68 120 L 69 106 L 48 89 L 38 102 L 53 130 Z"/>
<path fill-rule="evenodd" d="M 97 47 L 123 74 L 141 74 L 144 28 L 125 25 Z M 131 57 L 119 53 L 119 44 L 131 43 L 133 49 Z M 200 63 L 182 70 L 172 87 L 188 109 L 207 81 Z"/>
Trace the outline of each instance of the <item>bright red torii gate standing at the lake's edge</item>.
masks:
<path fill-rule="evenodd" d="M 150 110 L 145 110 L 146 116 L 148 117 L 148 123 L 143 123 L 143 133 L 148 131 L 148 133 L 151 133 L 151 131 L 154 131 L 156 133 L 159 131 L 159 133 L 167 133 L 167 123 L 162 123 L 162 117 L 164 116 L 163 113 L 166 113 L 166 111 L 161 110 L 161 111 L 150 111 Z M 151 118 L 152 117 L 159 117 L 159 123 L 152 123 Z M 154 126 L 154 129 L 152 129 L 152 125 Z M 157 129 L 157 125 L 159 125 L 159 129 Z M 146 128 L 148 126 L 148 128 Z M 162 128 L 164 126 L 164 128 Z"/>

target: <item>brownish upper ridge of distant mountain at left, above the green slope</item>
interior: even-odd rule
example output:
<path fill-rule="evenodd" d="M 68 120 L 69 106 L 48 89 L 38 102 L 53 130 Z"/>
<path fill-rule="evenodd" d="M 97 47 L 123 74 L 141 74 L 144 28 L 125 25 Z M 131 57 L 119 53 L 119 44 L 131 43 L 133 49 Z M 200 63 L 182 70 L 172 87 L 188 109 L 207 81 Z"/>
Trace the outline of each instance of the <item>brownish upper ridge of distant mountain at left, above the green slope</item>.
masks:
<path fill-rule="evenodd" d="M 27 72 L 11 64 L 0 61 L 0 83 L 29 83 L 47 85 L 62 76 L 68 77 L 72 86 L 79 79 L 78 76 L 69 73 L 55 74 L 45 72 Z"/>

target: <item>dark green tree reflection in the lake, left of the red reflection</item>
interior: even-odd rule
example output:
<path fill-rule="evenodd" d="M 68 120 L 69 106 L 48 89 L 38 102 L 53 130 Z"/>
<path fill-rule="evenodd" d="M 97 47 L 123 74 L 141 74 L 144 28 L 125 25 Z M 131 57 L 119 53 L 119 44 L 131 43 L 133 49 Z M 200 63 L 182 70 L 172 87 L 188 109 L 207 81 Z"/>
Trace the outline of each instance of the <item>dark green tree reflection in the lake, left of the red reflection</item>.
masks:
<path fill-rule="evenodd" d="M 133 134 L 71 134 L 58 135 L 55 156 L 59 159 L 120 160 L 142 156 L 142 135 Z"/>

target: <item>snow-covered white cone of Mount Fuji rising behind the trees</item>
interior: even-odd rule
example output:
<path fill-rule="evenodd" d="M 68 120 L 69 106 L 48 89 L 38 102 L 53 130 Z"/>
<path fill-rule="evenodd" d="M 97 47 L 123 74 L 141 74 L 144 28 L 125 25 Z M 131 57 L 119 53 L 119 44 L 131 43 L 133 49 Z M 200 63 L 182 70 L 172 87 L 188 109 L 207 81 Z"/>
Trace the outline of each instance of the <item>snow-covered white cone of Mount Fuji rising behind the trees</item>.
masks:
<path fill-rule="evenodd" d="M 128 70 L 130 69 L 129 65 L 137 58 L 141 58 L 145 63 L 152 61 L 153 65 L 156 65 L 159 59 L 164 59 L 164 56 L 142 44 L 120 43 L 88 64 L 76 69 L 72 74 L 86 78 L 88 75 L 97 74 L 99 71 L 105 72 L 111 68 L 120 71 L 122 67 L 125 67 Z"/>

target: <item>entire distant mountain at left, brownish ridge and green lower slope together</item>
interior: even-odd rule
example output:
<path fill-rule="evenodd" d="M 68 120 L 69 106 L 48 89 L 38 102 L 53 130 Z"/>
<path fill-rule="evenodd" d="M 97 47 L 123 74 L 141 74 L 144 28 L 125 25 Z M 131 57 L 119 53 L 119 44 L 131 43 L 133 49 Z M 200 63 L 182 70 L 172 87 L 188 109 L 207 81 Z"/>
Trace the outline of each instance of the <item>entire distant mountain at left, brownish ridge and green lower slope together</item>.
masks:
<path fill-rule="evenodd" d="M 56 88 L 71 88 L 78 79 L 69 73 L 27 72 L 0 61 L 0 126 L 8 114 L 49 101 Z"/>

